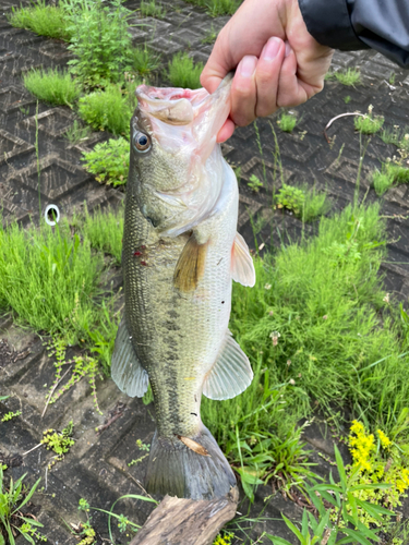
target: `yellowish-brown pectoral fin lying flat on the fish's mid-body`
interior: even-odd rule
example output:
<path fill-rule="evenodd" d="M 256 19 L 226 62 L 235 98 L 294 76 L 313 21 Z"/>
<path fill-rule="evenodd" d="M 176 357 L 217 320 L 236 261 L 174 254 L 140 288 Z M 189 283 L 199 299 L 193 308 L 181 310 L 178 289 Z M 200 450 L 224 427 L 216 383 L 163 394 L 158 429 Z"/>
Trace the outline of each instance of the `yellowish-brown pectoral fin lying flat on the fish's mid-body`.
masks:
<path fill-rule="evenodd" d="M 194 291 L 203 277 L 207 243 L 199 244 L 194 234 L 190 237 L 180 254 L 173 274 L 173 284 L 180 291 Z"/>

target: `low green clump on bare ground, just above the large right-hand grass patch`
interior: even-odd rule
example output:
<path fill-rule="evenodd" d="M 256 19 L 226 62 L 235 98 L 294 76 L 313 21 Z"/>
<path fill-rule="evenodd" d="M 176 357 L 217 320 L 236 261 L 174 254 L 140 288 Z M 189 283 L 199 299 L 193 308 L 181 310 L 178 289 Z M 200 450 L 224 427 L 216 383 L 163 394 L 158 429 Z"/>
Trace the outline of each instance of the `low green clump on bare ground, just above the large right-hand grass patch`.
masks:
<path fill-rule="evenodd" d="M 294 187 L 284 183 L 276 196 L 276 207 L 287 208 L 303 221 L 312 221 L 326 214 L 330 204 L 326 193 L 318 193 L 315 187 L 310 190 L 308 185 Z"/>

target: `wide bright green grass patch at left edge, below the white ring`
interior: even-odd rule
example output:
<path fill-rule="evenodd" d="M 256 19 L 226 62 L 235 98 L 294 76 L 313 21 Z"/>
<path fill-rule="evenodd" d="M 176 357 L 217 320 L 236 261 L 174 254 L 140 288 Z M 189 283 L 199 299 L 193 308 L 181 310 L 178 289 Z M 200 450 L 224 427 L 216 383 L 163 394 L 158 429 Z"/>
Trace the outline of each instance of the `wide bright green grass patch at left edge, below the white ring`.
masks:
<path fill-rule="evenodd" d="M 71 237 L 67 222 L 55 232 L 16 223 L 0 229 L 0 301 L 37 331 L 77 342 L 97 320 L 91 298 L 101 269 L 103 257 L 89 241 Z"/>

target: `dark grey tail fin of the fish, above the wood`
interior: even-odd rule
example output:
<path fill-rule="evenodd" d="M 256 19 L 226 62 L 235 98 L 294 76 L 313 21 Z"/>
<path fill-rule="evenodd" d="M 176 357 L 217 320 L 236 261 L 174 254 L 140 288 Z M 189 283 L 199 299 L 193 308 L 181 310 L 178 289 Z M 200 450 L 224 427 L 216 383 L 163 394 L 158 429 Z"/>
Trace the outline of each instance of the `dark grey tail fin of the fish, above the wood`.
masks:
<path fill-rule="evenodd" d="M 159 437 L 155 432 L 146 471 L 149 494 L 213 499 L 226 496 L 236 477 L 210 432 L 194 437 Z"/>

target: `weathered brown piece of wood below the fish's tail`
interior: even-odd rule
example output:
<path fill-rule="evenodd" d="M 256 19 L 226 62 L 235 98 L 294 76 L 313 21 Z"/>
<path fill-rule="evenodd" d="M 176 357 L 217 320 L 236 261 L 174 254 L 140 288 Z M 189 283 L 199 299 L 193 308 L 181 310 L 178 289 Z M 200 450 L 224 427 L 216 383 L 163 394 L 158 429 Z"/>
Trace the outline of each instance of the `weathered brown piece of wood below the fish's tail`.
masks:
<path fill-rule="evenodd" d="M 165 496 L 130 545 L 210 545 L 237 511 L 237 486 L 218 499 Z"/>

